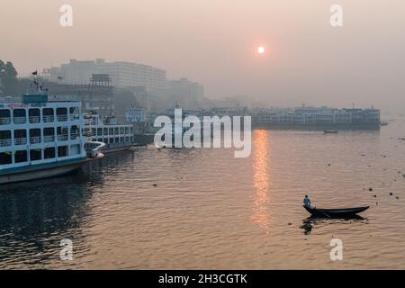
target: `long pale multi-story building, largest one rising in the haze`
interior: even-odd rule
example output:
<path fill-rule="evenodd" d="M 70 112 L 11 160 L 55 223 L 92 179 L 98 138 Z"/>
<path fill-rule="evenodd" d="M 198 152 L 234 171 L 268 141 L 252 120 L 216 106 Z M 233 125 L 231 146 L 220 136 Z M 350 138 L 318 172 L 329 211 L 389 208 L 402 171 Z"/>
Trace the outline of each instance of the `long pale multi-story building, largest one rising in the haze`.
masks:
<path fill-rule="evenodd" d="M 43 70 L 43 76 L 49 81 L 67 85 L 86 85 L 93 74 L 108 74 L 112 85 L 118 88 L 144 86 L 149 92 L 166 86 L 163 69 L 131 62 L 106 62 L 103 58 L 95 61 L 71 59 L 60 67 Z"/>

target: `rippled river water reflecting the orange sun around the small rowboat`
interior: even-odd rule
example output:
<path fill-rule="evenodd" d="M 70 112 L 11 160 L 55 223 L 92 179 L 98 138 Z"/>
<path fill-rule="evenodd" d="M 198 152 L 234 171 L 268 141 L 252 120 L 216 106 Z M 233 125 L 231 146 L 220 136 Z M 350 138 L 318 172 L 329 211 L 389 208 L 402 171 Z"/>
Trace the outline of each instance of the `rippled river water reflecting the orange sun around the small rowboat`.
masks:
<path fill-rule="evenodd" d="M 405 268 L 404 136 L 404 121 L 336 135 L 255 130 L 247 158 L 149 146 L 3 185 L 0 268 Z M 318 207 L 371 208 L 311 220 L 305 193 Z M 59 258 L 64 238 L 71 261 Z M 342 261 L 330 260 L 332 238 Z"/>

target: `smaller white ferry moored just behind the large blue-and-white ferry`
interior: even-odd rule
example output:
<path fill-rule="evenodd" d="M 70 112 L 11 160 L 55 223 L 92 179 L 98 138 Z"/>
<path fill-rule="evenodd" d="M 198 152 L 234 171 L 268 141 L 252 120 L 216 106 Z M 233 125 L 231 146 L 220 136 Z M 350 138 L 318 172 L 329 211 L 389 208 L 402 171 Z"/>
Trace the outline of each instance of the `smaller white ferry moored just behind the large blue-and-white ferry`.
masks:
<path fill-rule="evenodd" d="M 118 124 L 114 116 L 86 114 L 85 135 L 92 141 L 105 143 L 103 153 L 127 150 L 136 145 L 133 126 Z"/>

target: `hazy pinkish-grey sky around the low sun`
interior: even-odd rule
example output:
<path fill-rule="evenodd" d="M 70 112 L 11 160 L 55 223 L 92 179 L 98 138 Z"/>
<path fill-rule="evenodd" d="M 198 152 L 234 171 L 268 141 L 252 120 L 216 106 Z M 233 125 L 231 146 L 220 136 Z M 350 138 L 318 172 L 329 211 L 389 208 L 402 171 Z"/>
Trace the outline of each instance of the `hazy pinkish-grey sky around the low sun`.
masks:
<path fill-rule="evenodd" d="M 59 25 L 73 6 L 71 28 Z M 341 4 L 344 26 L 329 24 Z M 21 74 L 69 58 L 124 60 L 273 105 L 405 112 L 403 0 L 0 0 L 0 58 Z M 258 56 L 257 47 L 266 47 Z"/>

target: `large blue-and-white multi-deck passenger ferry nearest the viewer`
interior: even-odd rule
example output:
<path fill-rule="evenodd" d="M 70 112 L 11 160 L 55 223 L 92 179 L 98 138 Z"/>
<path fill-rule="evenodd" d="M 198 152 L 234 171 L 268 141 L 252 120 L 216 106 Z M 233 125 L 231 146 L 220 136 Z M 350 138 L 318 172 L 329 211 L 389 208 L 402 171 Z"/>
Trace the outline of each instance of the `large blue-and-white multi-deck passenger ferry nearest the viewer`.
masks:
<path fill-rule="evenodd" d="M 78 101 L 41 93 L 0 97 L 0 184 L 61 175 L 84 165 L 89 158 L 83 124 Z M 93 157 L 103 157 L 97 145 L 92 148 Z"/>

